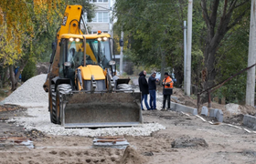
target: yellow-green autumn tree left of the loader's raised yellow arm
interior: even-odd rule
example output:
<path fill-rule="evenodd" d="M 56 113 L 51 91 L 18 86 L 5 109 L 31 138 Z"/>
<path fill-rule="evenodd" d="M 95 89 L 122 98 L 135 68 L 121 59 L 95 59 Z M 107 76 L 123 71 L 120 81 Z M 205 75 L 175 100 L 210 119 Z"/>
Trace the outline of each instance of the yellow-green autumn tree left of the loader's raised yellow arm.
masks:
<path fill-rule="evenodd" d="M 93 16 L 89 0 L 1 0 L 0 1 L 0 60 L 9 67 L 12 90 L 26 67 L 27 61 L 46 59 L 51 52 L 51 42 L 60 26 L 66 5 L 81 4 Z M 16 76 L 13 69 L 19 66 Z"/>

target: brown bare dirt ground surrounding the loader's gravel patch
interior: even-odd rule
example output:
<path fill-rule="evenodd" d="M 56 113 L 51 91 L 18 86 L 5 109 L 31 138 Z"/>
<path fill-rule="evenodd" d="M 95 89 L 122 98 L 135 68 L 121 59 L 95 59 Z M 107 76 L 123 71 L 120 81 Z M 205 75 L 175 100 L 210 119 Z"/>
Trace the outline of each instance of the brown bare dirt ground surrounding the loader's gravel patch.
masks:
<path fill-rule="evenodd" d="M 124 136 L 127 149 L 92 148 L 92 139 L 53 136 L 37 129 L 26 130 L 8 118 L 26 115 L 26 108 L 0 110 L 0 137 L 31 138 L 35 149 L 0 149 L 0 163 L 255 163 L 256 136 L 238 128 L 210 125 L 193 116 L 173 111 L 144 111 L 145 123 L 166 129 L 150 136 Z M 29 117 L 29 116 L 26 116 Z"/>

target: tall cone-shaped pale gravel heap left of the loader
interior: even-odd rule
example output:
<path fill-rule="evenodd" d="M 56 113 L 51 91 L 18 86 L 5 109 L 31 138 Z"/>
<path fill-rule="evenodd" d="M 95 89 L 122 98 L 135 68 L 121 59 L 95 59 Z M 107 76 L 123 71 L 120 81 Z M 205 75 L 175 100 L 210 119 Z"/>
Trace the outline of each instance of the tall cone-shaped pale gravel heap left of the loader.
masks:
<path fill-rule="evenodd" d="M 47 78 L 41 74 L 28 79 L 21 87 L 18 87 L 9 97 L 5 98 L 5 104 L 17 104 L 26 107 L 44 106 L 48 104 L 48 93 L 43 89 Z"/>

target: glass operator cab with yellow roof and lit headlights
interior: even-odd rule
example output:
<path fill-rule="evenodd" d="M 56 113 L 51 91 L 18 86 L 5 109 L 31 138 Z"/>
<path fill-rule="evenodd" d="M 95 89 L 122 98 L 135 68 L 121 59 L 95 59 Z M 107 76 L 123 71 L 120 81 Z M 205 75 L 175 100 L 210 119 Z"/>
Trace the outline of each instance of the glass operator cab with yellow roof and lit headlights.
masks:
<path fill-rule="evenodd" d="M 86 57 L 84 57 L 84 38 L 81 35 L 63 35 L 60 41 L 59 77 L 75 82 L 75 72 L 80 66 L 98 65 L 102 69 L 110 68 L 112 74 L 115 62 L 112 60 L 110 35 L 84 35 L 86 37 Z"/>

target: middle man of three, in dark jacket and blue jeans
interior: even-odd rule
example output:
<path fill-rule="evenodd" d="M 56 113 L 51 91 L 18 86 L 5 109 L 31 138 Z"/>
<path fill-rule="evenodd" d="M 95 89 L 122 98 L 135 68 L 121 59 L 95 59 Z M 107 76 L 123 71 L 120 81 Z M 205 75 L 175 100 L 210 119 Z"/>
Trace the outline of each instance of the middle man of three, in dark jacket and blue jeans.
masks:
<path fill-rule="evenodd" d="M 156 72 L 152 73 L 152 75 L 148 78 L 148 90 L 149 90 L 149 106 L 151 108 L 151 110 L 155 110 L 156 109 L 156 94 L 155 94 L 155 90 L 156 90 L 156 82 L 158 81 L 158 79 L 155 78 Z"/>

